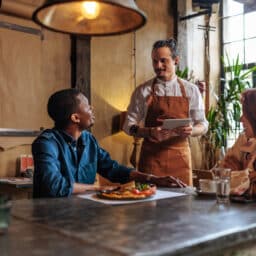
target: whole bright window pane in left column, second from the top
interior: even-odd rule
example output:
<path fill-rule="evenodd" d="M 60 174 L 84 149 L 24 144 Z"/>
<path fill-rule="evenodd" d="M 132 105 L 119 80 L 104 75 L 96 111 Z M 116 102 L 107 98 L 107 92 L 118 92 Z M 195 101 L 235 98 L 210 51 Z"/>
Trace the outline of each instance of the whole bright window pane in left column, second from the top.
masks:
<path fill-rule="evenodd" d="M 224 43 L 242 40 L 243 36 L 243 15 L 223 20 Z"/>

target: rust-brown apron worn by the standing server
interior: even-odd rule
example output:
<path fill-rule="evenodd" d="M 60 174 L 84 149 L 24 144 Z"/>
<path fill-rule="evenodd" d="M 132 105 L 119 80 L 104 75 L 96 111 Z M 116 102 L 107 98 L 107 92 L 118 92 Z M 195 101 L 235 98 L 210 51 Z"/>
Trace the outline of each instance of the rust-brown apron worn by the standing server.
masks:
<path fill-rule="evenodd" d="M 188 118 L 189 100 L 181 80 L 178 79 L 178 83 L 182 96 L 157 96 L 155 82 L 156 79 L 152 83 L 152 93 L 147 99 L 148 112 L 145 126 L 161 126 L 161 119 L 166 118 Z M 145 138 L 141 147 L 139 170 L 157 176 L 172 175 L 186 184 L 192 185 L 191 153 L 188 139 L 177 136 L 155 143 Z"/>

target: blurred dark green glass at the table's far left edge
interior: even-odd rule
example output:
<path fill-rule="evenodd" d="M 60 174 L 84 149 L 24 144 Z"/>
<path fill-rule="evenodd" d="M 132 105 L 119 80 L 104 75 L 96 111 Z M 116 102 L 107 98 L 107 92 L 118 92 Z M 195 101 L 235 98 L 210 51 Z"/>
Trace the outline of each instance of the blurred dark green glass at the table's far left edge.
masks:
<path fill-rule="evenodd" d="M 0 235 L 8 231 L 11 215 L 11 201 L 9 196 L 0 194 Z"/>

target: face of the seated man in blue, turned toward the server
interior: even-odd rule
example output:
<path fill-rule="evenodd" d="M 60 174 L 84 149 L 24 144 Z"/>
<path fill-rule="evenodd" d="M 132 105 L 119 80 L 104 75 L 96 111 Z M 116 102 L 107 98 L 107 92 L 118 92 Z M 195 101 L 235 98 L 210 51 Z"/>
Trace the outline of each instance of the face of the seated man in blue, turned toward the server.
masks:
<path fill-rule="evenodd" d="M 77 110 L 77 114 L 80 119 L 80 130 L 82 131 L 93 126 L 95 117 L 93 114 L 93 109 L 89 105 L 88 99 L 83 94 L 79 94 L 78 99 L 80 100 L 80 104 Z"/>

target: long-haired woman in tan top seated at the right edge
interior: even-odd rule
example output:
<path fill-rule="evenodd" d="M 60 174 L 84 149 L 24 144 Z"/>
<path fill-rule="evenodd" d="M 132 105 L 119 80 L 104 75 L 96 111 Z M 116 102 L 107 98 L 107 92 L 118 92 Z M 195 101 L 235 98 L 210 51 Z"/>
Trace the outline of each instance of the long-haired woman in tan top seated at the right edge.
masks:
<path fill-rule="evenodd" d="M 243 114 L 240 121 L 243 124 L 244 132 L 238 137 L 233 147 L 228 150 L 220 166 L 230 168 L 233 171 L 231 189 L 233 182 L 233 184 L 236 183 L 237 191 L 235 192 L 238 194 L 245 191 L 249 194 L 255 194 L 253 187 L 255 184 L 256 188 L 256 89 L 248 89 L 243 92 L 241 103 Z M 243 171 L 243 173 L 234 171 Z M 237 177 L 236 180 L 234 177 Z M 238 184 L 239 181 L 240 184 Z M 249 186 L 250 190 L 248 190 Z"/>

